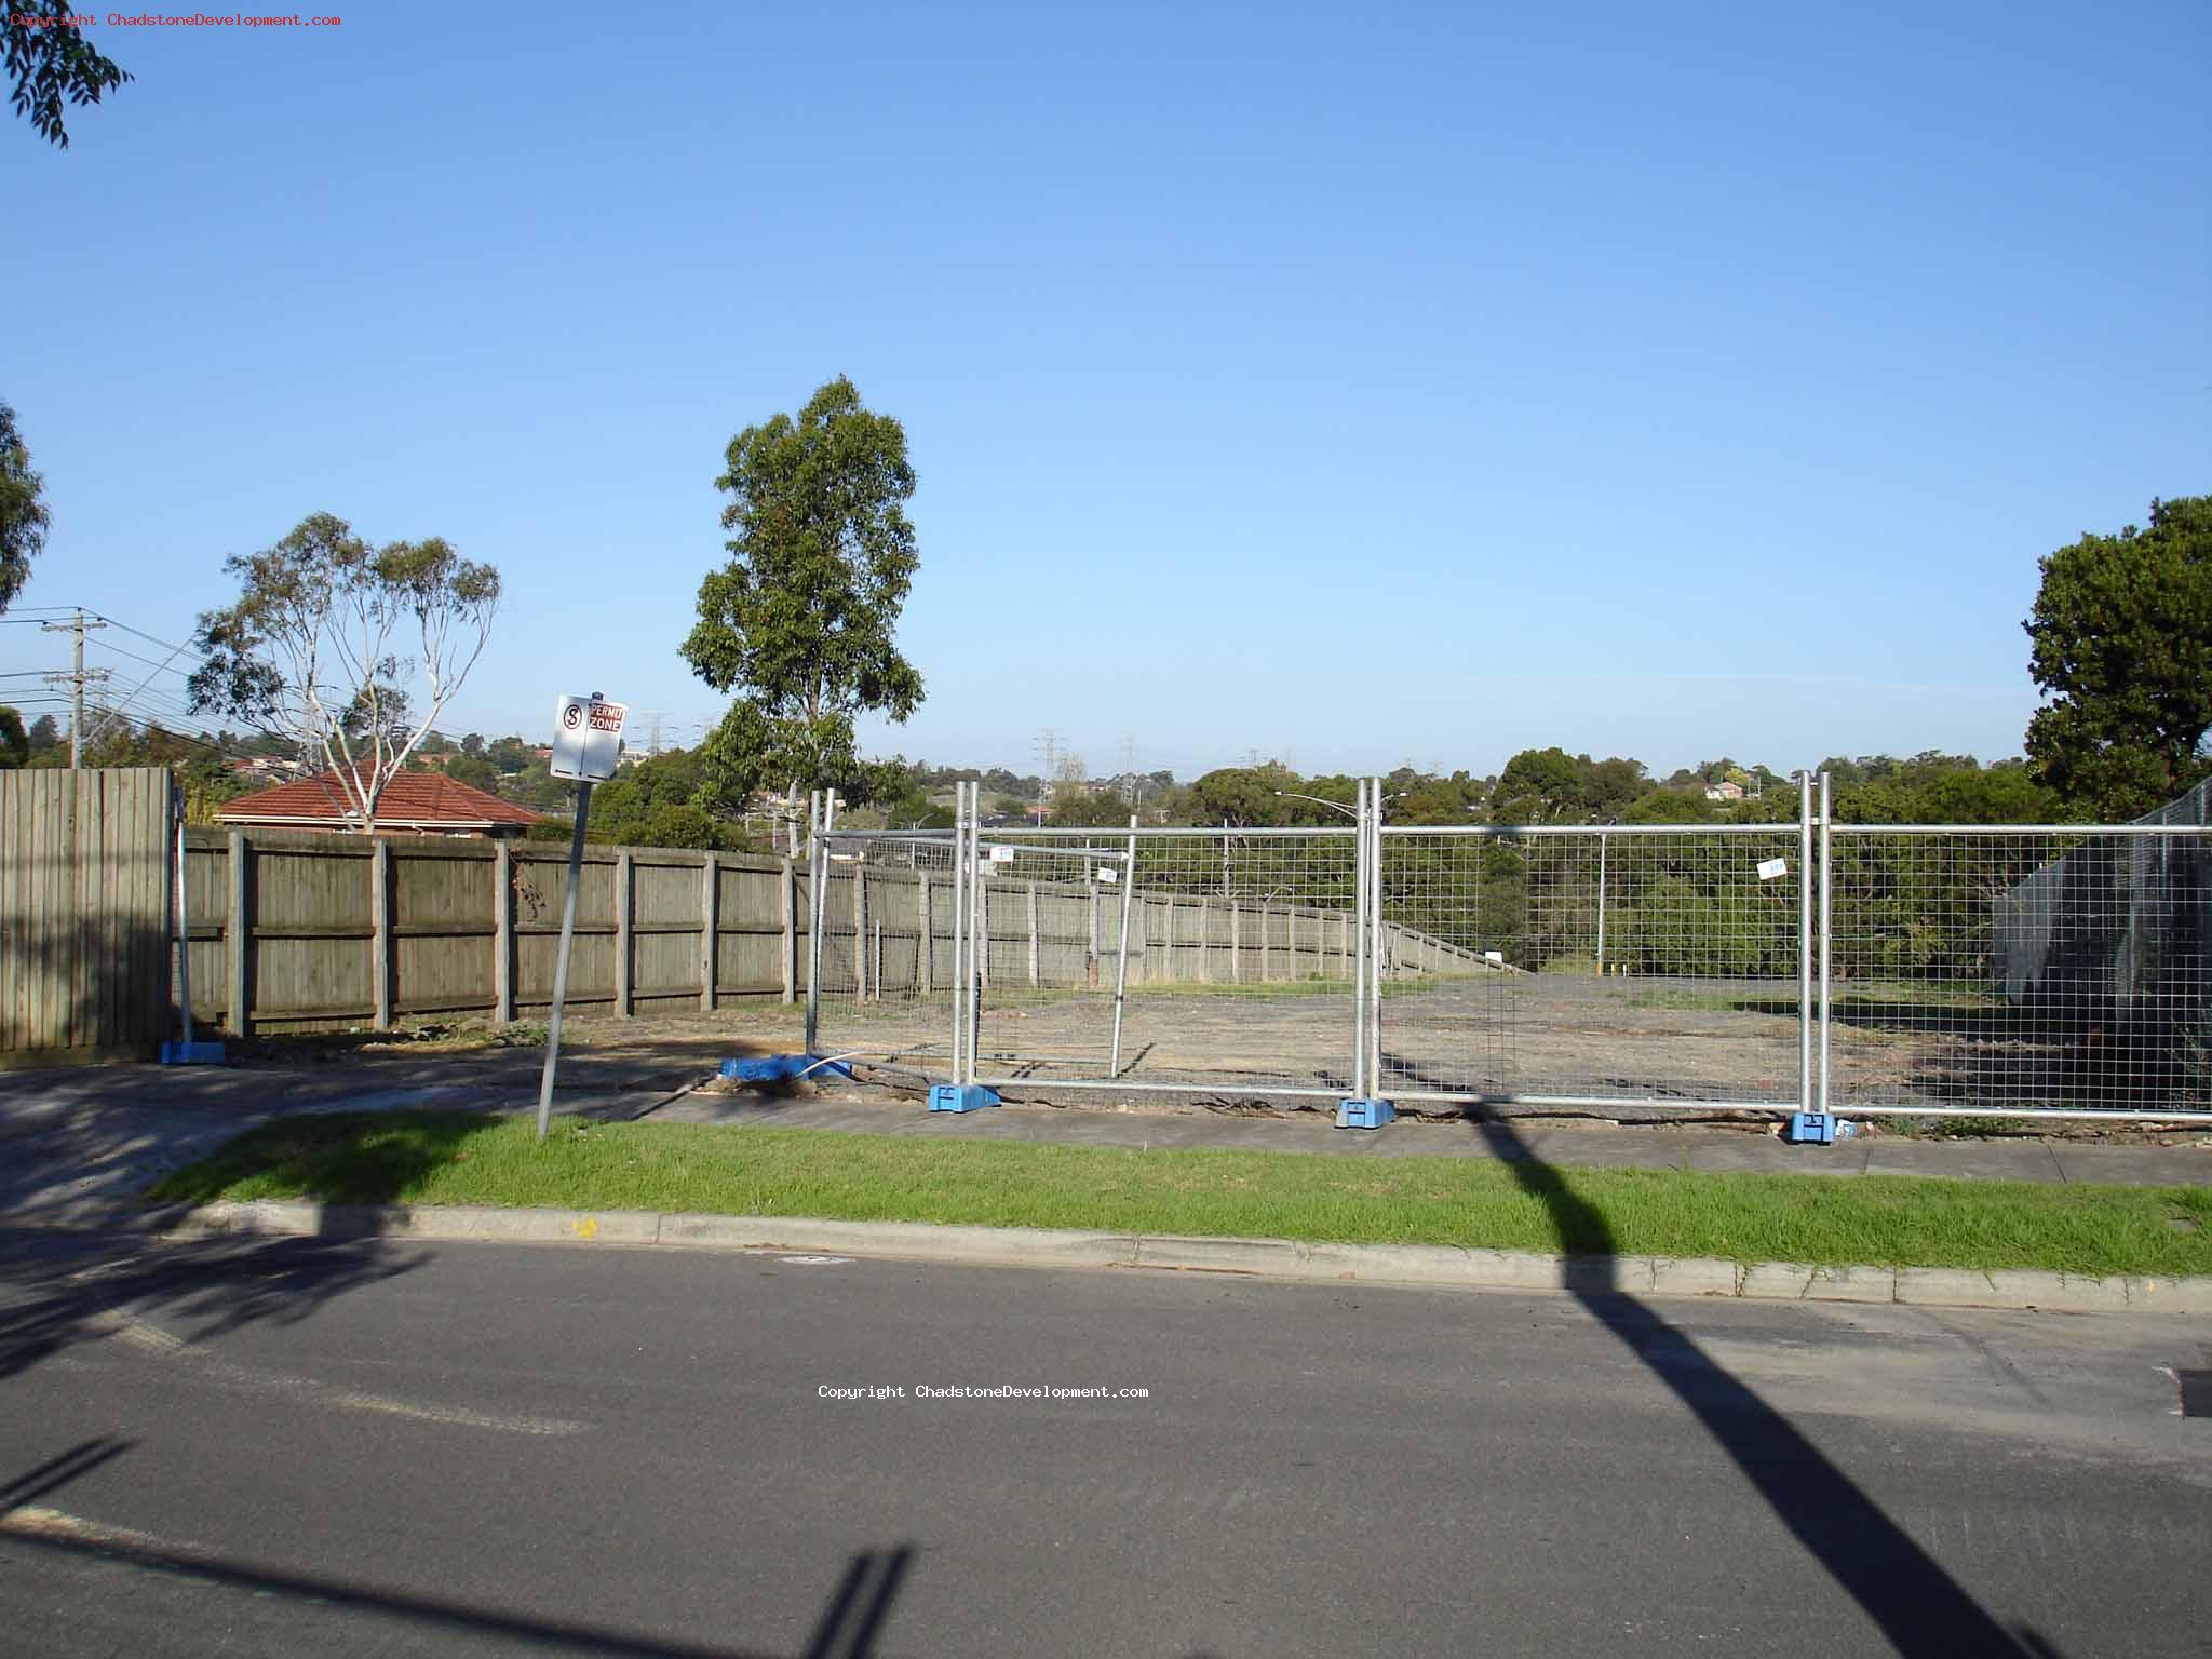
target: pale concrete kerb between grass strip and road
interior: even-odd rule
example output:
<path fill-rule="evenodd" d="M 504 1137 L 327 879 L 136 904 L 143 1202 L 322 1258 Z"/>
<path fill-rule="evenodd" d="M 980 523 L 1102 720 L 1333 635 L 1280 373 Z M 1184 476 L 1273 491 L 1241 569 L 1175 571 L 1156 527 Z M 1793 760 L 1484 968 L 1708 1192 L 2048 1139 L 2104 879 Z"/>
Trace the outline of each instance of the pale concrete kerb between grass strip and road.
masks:
<path fill-rule="evenodd" d="M 1745 1265 L 1712 1256 L 1557 1256 L 1535 1250 L 1467 1250 L 1460 1245 L 1354 1245 L 1301 1239 L 962 1228 L 918 1221 L 655 1214 L 650 1210 L 502 1210 L 489 1206 L 210 1203 L 197 1210 L 142 1212 L 139 1225 L 161 1239 L 290 1237 L 796 1250 L 993 1267 L 1150 1267 L 1447 1290 L 1566 1290 L 1628 1296 L 1905 1303 L 1913 1307 L 2212 1318 L 2212 1279 L 2084 1279 L 2026 1270 L 1820 1267 L 1790 1261 Z"/>

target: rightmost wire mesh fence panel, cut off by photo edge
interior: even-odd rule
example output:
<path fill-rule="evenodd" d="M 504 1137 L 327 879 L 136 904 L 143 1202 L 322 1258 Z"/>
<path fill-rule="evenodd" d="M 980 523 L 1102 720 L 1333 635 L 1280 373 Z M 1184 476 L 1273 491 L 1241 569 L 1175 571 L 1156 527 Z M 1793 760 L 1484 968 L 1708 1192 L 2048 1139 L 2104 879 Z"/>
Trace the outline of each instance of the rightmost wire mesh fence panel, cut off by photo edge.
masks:
<path fill-rule="evenodd" d="M 2208 834 L 1836 825 L 1829 1104 L 2212 1108 Z"/>

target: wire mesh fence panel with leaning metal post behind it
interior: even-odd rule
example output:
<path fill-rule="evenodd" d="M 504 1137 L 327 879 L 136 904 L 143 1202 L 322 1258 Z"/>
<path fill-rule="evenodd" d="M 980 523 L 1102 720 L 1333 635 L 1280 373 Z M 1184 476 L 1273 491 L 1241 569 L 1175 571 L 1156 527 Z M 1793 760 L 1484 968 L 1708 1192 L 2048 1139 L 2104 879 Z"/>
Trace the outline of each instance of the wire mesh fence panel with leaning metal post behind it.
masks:
<path fill-rule="evenodd" d="M 1356 845 L 1352 827 L 987 830 L 978 1079 L 1347 1093 Z"/>

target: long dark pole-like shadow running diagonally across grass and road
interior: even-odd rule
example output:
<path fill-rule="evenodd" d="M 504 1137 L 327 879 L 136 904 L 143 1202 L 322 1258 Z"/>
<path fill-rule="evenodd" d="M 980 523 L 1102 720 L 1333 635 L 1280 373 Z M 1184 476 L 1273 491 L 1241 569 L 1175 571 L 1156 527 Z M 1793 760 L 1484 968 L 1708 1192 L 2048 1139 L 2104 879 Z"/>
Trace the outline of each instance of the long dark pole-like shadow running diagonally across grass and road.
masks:
<path fill-rule="evenodd" d="M 2008 1632 L 2000 1626 L 1787 1416 L 1717 1365 L 1686 1332 L 1626 1294 L 1606 1219 L 1575 1194 L 1555 1166 L 1537 1159 L 1511 1124 L 1484 1121 L 1482 1137 L 1513 1181 L 1548 1210 L 1568 1256 L 1566 1287 L 1575 1301 L 1690 1409 L 1776 1520 L 1882 1630 L 1891 1648 L 1907 1659 L 2057 1655 L 2035 1632 Z"/>

